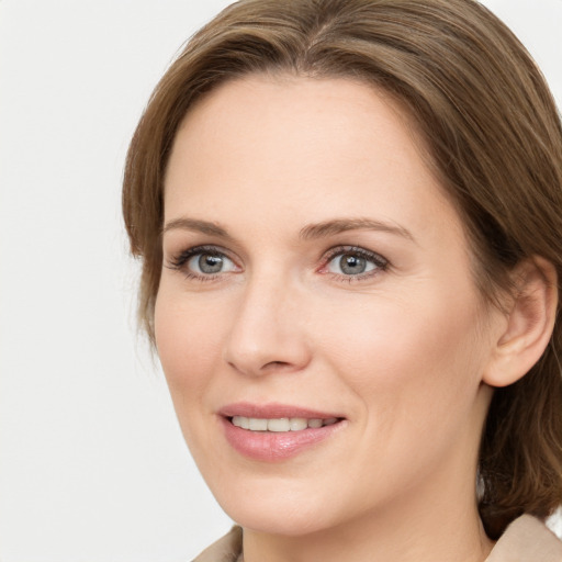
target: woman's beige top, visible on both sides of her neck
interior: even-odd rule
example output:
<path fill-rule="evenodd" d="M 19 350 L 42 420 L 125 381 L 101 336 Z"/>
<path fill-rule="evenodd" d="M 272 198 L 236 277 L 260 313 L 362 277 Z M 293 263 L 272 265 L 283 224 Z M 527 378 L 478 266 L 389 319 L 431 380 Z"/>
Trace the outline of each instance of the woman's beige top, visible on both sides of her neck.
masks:
<path fill-rule="evenodd" d="M 244 562 L 240 527 L 233 527 L 193 562 Z M 538 519 L 524 515 L 507 527 L 485 562 L 562 562 L 562 542 Z"/>

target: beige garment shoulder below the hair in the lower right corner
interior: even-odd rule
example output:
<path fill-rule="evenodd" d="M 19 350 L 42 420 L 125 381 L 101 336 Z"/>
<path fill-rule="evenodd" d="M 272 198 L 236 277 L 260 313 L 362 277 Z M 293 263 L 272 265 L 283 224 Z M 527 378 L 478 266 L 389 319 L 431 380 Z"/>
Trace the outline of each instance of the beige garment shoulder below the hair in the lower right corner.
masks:
<path fill-rule="evenodd" d="M 522 515 L 507 527 L 486 562 L 562 562 L 562 542 L 539 519 Z"/>

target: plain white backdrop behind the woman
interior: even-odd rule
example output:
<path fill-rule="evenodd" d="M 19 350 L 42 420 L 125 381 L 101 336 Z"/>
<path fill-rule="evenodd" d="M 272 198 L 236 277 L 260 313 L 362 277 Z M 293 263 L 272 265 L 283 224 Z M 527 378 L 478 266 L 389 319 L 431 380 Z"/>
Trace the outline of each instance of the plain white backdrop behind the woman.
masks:
<path fill-rule="evenodd" d="M 229 519 L 135 326 L 126 147 L 226 0 L 0 0 L 0 560 L 188 561 Z M 485 2 L 562 102 L 562 0 Z"/>

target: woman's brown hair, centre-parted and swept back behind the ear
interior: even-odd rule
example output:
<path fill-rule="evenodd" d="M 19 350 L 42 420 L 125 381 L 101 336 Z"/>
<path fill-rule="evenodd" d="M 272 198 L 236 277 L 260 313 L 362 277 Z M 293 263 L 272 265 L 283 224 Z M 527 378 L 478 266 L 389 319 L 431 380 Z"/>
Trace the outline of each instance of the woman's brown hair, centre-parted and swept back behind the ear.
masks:
<path fill-rule="evenodd" d="M 562 279 L 560 117 L 539 69 L 497 18 L 474 0 L 241 0 L 166 72 L 128 151 L 123 210 L 143 259 L 139 312 L 151 338 L 162 184 L 178 126 L 218 85 L 277 71 L 349 77 L 401 100 L 463 218 L 484 295 L 494 300 L 514 266 L 536 255 Z M 557 323 L 541 360 L 494 393 L 479 461 L 492 538 L 518 515 L 546 517 L 562 503 L 561 346 Z"/>

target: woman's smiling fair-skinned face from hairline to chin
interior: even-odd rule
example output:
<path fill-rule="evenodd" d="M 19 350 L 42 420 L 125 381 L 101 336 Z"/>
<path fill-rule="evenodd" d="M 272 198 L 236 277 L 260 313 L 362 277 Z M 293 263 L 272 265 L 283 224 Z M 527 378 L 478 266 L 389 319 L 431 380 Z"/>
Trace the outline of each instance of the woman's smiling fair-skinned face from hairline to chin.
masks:
<path fill-rule="evenodd" d="M 341 79 L 233 81 L 178 132 L 158 352 L 245 527 L 474 504 L 498 321 L 420 154 L 396 104 Z"/>

